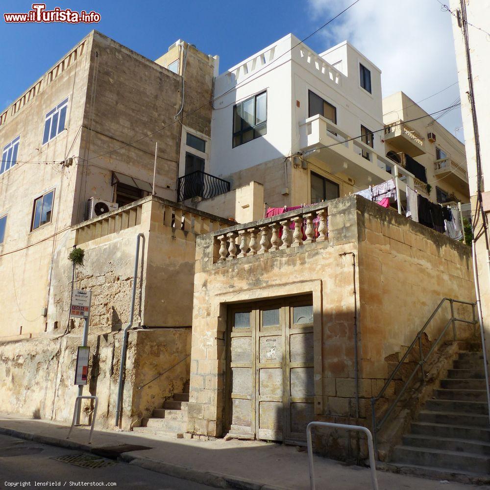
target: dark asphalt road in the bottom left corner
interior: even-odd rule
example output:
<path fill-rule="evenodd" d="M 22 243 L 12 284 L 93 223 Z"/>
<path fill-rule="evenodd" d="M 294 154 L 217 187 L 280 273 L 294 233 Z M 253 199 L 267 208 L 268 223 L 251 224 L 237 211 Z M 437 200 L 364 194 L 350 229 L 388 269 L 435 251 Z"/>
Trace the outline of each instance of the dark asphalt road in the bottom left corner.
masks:
<path fill-rule="evenodd" d="M 0 488 L 94 489 L 115 487 L 116 489 L 137 490 L 209 490 L 214 488 L 114 460 L 106 460 L 110 462 L 110 466 L 86 468 L 52 459 L 80 454 L 85 458 L 95 457 L 72 449 L 0 434 Z M 100 459 L 99 456 L 97 458 Z M 89 485 L 86 485 L 87 483 Z"/>

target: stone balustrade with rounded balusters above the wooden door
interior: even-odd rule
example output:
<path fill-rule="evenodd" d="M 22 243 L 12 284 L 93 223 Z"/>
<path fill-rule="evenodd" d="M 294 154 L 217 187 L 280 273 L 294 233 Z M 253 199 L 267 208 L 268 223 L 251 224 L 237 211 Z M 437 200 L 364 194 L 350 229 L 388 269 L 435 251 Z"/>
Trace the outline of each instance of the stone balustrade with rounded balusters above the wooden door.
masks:
<path fill-rule="evenodd" d="M 215 248 L 218 250 L 216 262 L 281 253 L 287 248 L 327 241 L 327 203 L 304 207 L 248 225 L 215 234 Z"/>

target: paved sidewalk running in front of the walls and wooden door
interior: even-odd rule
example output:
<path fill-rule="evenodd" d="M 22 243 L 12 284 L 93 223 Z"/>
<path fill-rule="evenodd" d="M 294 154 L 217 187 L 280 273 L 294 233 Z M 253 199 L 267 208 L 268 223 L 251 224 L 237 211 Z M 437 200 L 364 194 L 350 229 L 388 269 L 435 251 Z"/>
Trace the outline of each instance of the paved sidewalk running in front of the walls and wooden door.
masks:
<path fill-rule="evenodd" d="M 69 426 L 47 420 L 32 420 L 0 414 L 0 433 L 52 445 L 91 451 L 104 446 L 137 444 L 151 449 L 124 452 L 119 457 L 171 476 L 218 488 L 251 490 L 309 490 L 308 459 L 305 451 L 294 446 L 261 441 L 199 441 L 163 439 L 157 436 L 74 428 L 67 440 Z M 319 456 L 314 457 L 318 490 L 370 489 L 368 468 L 344 466 Z M 489 486 L 428 480 L 409 475 L 378 471 L 379 490 L 470 490 Z"/>

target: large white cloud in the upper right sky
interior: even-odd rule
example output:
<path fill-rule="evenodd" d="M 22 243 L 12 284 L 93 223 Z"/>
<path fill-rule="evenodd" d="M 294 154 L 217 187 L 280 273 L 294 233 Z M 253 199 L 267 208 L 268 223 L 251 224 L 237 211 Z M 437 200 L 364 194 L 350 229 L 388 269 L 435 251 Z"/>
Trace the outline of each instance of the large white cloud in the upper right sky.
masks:
<path fill-rule="evenodd" d="M 326 22 L 352 1 L 308 0 L 314 24 Z M 437 0 L 361 0 L 319 36 L 324 49 L 347 39 L 377 65 L 384 97 L 401 90 L 418 101 L 458 79 L 451 15 L 441 11 Z M 458 97 L 456 84 L 420 105 L 434 112 Z M 459 108 L 439 122 L 454 134 L 462 125 Z M 457 134 L 463 137 L 463 131 Z"/>

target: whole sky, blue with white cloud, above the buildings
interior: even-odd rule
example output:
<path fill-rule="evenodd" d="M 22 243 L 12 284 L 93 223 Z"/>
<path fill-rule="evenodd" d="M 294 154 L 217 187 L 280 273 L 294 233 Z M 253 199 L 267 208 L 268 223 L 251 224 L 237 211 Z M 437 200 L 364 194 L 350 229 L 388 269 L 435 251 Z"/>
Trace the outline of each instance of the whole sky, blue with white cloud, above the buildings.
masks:
<path fill-rule="evenodd" d="M 222 72 L 289 32 L 306 37 L 352 1 L 249 0 L 240 4 L 239 12 L 235 2 L 213 0 L 48 1 L 48 9 L 95 10 L 101 21 L 6 25 L 2 18 L 0 66 L 9 69 L 0 78 L 0 106 L 22 95 L 93 28 L 150 59 L 184 39 L 207 54 L 218 54 Z M 27 12 L 31 4 L 3 0 L 1 13 Z M 418 101 L 457 80 L 450 15 L 441 12 L 436 0 L 360 0 L 307 44 L 321 52 L 344 39 L 381 68 L 384 96 L 403 90 Z M 456 84 L 421 105 L 433 112 L 457 97 Z M 462 125 L 460 111 L 452 111 L 440 122 L 454 134 Z M 462 138 L 463 132 L 457 135 Z"/>

